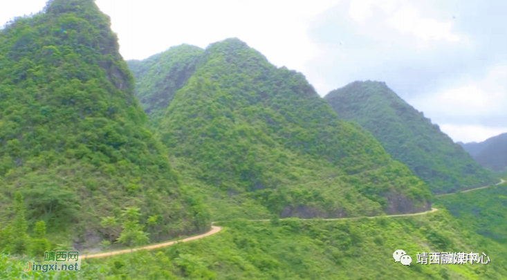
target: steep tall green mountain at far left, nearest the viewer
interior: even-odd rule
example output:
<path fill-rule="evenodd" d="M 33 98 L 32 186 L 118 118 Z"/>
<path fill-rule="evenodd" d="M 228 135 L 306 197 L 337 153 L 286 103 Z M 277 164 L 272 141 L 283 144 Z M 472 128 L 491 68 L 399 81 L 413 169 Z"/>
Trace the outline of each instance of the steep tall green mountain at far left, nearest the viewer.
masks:
<path fill-rule="evenodd" d="M 28 232 L 42 220 L 77 248 L 118 234 L 100 221 L 126 207 L 151 218 L 152 240 L 209 227 L 145 127 L 110 26 L 94 1 L 53 0 L 0 30 L 1 227 L 18 191 Z"/>

